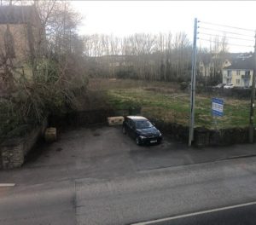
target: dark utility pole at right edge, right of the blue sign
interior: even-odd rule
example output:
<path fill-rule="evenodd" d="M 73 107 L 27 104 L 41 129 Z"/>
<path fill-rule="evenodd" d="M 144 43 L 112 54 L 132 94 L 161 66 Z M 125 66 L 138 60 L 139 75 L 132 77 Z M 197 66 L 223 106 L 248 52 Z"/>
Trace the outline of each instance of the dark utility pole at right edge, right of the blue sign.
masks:
<path fill-rule="evenodd" d="M 253 53 L 253 84 L 251 93 L 251 110 L 250 110 L 250 126 L 249 126 L 249 141 L 253 143 L 254 136 L 254 126 L 253 126 L 253 113 L 254 113 L 254 99 L 255 99 L 255 77 L 256 77 L 256 31 L 255 31 L 255 43 L 254 43 L 254 53 Z"/>

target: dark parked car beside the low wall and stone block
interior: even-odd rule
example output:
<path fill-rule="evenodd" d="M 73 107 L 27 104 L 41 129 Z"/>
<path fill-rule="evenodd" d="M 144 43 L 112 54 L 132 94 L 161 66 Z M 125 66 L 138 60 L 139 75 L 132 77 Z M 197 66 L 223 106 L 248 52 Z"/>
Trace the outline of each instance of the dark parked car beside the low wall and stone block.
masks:
<path fill-rule="evenodd" d="M 162 141 L 162 134 L 151 124 L 148 118 L 127 116 L 123 123 L 123 133 L 134 139 L 137 145 L 154 144 Z"/>

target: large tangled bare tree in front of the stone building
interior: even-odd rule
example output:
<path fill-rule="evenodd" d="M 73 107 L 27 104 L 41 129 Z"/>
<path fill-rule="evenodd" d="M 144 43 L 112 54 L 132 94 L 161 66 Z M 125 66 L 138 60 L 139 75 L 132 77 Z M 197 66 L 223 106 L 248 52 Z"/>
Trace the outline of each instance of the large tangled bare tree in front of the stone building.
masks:
<path fill-rule="evenodd" d="M 67 2 L 49 0 L 34 3 L 41 25 L 39 38 L 35 38 L 34 43 L 37 42 L 39 49 L 44 50 L 35 49 L 33 55 L 30 51 L 31 57 L 24 65 L 32 65 L 33 79 L 24 70 L 20 76 L 15 75 L 20 69 L 11 63 L 15 49 L 11 47 L 14 45 L 8 32 L 6 44 L 0 49 L 0 66 L 5 67 L 4 72 L 1 70 L 0 80 L 7 81 L 8 78 L 13 87 L 5 95 L 4 104 L 12 108 L 9 118 L 16 122 L 19 120 L 17 124 L 38 123 L 48 113 L 60 113 L 76 107 L 78 90 L 83 91 L 87 84 L 84 41 L 77 32 L 79 15 Z M 10 124 L 9 129 L 12 127 Z"/>

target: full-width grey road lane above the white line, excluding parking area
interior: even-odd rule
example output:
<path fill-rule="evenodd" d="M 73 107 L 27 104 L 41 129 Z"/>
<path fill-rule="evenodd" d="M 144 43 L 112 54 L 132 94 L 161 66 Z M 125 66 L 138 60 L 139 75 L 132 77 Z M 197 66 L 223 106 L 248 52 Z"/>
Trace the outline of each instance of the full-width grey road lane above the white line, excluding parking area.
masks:
<path fill-rule="evenodd" d="M 7 187 L 0 224 L 131 224 L 244 204 L 256 199 L 255 165 L 232 159 Z"/>

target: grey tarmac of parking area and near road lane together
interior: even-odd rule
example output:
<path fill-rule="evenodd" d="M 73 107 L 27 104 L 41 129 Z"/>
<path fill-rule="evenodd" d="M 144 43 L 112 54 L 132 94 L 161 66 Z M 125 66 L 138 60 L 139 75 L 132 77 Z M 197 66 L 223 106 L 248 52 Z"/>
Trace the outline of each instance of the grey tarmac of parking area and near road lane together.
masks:
<path fill-rule="evenodd" d="M 15 183 L 0 187 L 0 224 L 131 224 L 251 202 L 255 147 L 137 147 L 119 127 L 66 130 L 0 171 Z"/>

